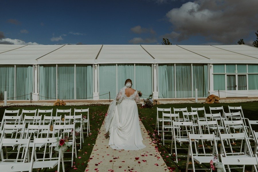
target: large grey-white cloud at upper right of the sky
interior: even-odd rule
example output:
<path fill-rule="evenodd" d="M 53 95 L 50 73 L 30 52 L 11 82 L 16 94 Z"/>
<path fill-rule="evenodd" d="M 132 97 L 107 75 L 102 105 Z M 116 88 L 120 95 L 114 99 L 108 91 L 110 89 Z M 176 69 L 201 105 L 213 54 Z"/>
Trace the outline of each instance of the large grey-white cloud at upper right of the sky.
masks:
<path fill-rule="evenodd" d="M 236 44 L 258 28 L 257 0 L 196 0 L 167 13 L 178 41 L 201 35 L 207 40 Z"/>

